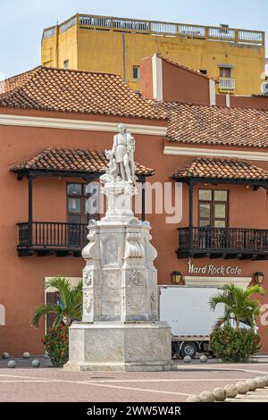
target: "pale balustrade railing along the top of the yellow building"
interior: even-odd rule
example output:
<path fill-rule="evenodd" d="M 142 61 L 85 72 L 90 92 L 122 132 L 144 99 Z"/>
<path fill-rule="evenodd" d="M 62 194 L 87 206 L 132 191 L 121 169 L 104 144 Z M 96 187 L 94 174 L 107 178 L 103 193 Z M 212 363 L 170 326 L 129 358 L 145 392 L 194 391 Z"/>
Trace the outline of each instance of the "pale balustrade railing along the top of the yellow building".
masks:
<path fill-rule="evenodd" d="M 193 25 L 187 23 L 174 23 L 166 21 L 145 21 L 141 19 L 118 18 L 113 16 L 100 16 L 93 14 L 77 14 L 59 25 L 59 33 L 70 29 L 77 24 L 80 27 L 96 29 L 121 30 L 128 32 L 141 32 L 151 35 L 163 35 L 180 38 L 202 38 L 264 45 L 264 32 L 259 30 L 234 29 L 229 27 L 214 27 Z M 55 27 L 54 27 L 55 28 Z M 50 38 L 56 33 L 53 28 L 45 29 L 43 39 Z"/>

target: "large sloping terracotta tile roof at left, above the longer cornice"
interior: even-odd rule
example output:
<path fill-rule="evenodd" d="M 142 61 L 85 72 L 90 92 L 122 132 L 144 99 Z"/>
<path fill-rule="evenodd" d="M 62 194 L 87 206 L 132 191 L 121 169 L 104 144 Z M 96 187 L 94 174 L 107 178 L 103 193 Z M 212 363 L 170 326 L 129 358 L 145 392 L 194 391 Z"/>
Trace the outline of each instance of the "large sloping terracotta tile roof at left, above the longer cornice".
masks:
<path fill-rule="evenodd" d="M 0 106 L 165 119 L 119 75 L 39 66 L 0 83 Z"/>

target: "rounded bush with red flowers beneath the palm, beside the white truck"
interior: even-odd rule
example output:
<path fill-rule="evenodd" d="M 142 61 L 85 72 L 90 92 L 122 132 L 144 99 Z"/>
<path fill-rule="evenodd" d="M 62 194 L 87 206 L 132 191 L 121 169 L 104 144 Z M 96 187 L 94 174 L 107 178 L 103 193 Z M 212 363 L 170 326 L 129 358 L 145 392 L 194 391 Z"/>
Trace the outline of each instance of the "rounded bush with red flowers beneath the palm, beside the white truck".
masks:
<path fill-rule="evenodd" d="M 215 328 L 210 336 L 214 356 L 223 362 L 245 362 L 259 348 L 260 338 L 252 329 L 235 329 L 229 325 Z"/>

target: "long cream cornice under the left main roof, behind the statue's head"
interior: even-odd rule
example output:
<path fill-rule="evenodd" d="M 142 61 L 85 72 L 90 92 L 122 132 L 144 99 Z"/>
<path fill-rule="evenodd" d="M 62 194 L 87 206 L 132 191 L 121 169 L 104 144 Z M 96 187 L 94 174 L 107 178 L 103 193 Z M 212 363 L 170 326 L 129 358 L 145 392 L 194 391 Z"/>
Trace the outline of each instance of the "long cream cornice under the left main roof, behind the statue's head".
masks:
<path fill-rule="evenodd" d="M 25 115 L 0 114 L 0 125 L 20 127 L 42 127 L 62 130 L 118 131 L 118 122 L 96 122 L 83 120 L 67 120 L 63 118 L 32 117 Z M 125 124 L 133 134 L 148 136 L 165 136 L 166 127 L 159 125 Z"/>

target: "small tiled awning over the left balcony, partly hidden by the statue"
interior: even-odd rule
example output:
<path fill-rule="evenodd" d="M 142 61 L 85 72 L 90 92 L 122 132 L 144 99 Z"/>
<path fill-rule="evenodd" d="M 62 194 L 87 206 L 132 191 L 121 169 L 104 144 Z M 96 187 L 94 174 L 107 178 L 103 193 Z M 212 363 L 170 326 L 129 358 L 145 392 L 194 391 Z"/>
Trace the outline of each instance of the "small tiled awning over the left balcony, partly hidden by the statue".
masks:
<path fill-rule="evenodd" d="M 105 172 L 107 164 L 105 152 L 99 150 L 47 147 L 29 160 L 16 164 L 11 171 Z M 154 172 L 142 164 L 136 164 L 137 175 L 149 176 Z"/>

